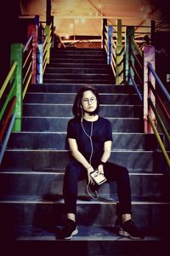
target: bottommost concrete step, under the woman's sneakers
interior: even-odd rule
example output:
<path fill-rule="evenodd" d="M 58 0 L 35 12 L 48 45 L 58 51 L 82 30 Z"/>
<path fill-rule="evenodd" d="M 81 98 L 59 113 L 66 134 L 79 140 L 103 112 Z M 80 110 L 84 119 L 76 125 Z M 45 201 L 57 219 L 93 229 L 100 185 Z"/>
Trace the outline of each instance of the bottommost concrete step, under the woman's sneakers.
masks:
<path fill-rule="evenodd" d="M 15 238 L 3 239 L 3 255 L 42 256 L 57 255 L 67 256 L 68 252 L 74 256 L 149 256 L 166 255 L 169 249 L 169 239 L 161 236 L 146 234 L 144 240 L 133 241 L 122 236 L 116 236 L 113 226 L 79 225 L 77 236 L 73 236 L 71 241 L 55 239 L 55 234 L 59 232 L 61 226 L 49 228 L 37 228 L 35 226 L 20 226 L 11 230 L 10 236 Z M 5 233 L 6 234 L 6 233 Z M 3 232 L 4 237 L 4 232 Z"/>

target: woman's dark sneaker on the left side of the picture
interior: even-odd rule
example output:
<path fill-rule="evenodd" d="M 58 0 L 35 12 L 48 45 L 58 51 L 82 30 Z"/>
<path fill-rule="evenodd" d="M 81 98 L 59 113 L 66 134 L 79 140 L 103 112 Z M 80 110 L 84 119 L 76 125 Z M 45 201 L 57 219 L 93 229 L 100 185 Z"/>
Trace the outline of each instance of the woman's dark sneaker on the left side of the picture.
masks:
<path fill-rule="evenodd" d="M 68 218 L 65 227 L 59 231 L 59 235 L 56 236 L 57 239 L 71 239 L 72 236 L 77 235 L 77 224 Z"/>

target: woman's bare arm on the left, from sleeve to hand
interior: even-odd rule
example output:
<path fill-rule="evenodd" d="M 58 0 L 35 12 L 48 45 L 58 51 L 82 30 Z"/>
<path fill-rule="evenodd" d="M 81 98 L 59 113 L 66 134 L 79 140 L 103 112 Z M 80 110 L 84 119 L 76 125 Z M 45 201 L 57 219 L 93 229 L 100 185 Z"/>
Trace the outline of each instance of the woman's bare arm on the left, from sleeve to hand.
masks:
<path fill-rule="evenodd" d="M 74 138 L 68 138 L 69 146 L 71 149 L 72 156 L 84 166 L 88 171 L 88 183 L 94 183 L 93 179 L 89 176 L 90 172 L 94 172 L 94 168 L 88 163 L 88 160 L 78 150 L 77 141 Z"/>

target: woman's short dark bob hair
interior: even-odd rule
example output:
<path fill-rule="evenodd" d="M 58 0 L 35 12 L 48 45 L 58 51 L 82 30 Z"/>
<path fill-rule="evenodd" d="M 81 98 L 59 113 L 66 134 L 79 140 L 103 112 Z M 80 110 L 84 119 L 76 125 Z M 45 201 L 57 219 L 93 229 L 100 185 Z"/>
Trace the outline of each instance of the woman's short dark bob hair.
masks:
<path fill-rule="evenodd" d="M 99 91 L 92 85 L 84 85 L 82 88 L 77 92 L 77 96 L 75 98 L 75 102 L 72 107 L 72 113 L 75 117 L 81 119 L 82 118 L 82 96 L 84 91 L 91 90 L 97 99 L 97 108 L 94 110 L 94 114 L 99 112 Z"/>

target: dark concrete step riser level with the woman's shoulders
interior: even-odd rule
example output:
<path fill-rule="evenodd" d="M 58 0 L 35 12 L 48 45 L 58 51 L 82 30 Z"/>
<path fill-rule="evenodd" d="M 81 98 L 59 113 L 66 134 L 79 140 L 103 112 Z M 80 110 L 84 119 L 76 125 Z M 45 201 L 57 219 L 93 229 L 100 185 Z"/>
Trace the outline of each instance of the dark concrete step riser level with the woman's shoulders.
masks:
<path fill-rule="evenodd" d="M 71 117 L 29 117 L 22 118 L 22 131 L 66 131 Z M 140 118 L 108 118 L 114 132 L 143 132 Z"/>

